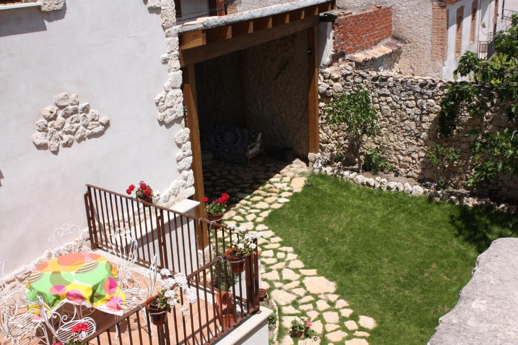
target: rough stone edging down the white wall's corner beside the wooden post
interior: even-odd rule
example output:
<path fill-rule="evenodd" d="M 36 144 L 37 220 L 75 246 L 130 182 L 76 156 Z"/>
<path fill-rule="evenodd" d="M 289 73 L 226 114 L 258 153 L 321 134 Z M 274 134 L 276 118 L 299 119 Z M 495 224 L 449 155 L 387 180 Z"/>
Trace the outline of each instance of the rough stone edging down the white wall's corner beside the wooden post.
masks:
<path fill-rule="evenodd" d="M 148 8 L 160 9 L 160 19 L 166 41 L 166 52 L 160 58 L 162 63 L 167 65 L 168 78 L 163 85 L 164 91 L 155 97 L 155 104 L 159 111 L 157 118 L 160 123 L 165 125 L 182 124 L 182 129 L 175 136 L 175 142 L 180 149 L 176 160 L 181 177 L 175 179 L 166 190 L 161 192 L 160 200 L 157 201 L 165 207 L 170 207 L 194 194 L 190 131 L 188 128 L 183 128 L 182 72 L 178 59 L 179 39 L 178 29 L 175 26 L 175 2 L 174 0 L 145 0 L 144 2 Z"/>

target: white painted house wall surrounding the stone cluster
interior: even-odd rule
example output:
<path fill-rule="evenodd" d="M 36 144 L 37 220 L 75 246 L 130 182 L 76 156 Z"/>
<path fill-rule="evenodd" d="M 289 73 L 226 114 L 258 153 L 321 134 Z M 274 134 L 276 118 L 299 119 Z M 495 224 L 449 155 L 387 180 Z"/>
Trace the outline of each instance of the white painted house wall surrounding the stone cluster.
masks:
<path fill-rule="evenodd" d="M 0 257 L 7 271 L 48 249 L 62 223 L 85 228 L 87 183 L 125 191 L 178 178 L 174 135 L 156 119 L 167 69 L 159 15 L 142 1 L 67 1 L 66 9 L 0 10 Z M 77 93 L 111 118 L 104 136 L 39 151 L 34 123 L 52 96 Z"/>

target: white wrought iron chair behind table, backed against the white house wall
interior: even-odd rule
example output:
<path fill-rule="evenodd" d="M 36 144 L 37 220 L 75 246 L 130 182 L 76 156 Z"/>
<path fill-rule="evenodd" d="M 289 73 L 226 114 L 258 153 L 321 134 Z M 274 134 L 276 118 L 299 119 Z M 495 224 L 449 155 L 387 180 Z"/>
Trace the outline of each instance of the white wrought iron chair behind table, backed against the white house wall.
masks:
<path fill-rule="evenodd" d="M 79 229 L 77 225 L 63 224 L 49 237 L 49 245 L 52 249 L 52 257 L 59 257 L 70 253 L 91 251 L 84 246 L 86 231 Z"/>

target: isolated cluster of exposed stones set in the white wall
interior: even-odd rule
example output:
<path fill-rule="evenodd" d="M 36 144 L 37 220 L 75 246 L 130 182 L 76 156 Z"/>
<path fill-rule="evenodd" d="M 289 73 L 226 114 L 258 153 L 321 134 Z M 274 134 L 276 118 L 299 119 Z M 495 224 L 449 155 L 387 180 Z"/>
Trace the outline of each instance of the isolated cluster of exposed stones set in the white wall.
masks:
<path fill-rule="evenodd" d="M 102 136 L 110 123 L 108 117 L 99 116 L 97 109 L 90 109 L 90 103 L 80 103 L 77 94 L 54 95 L 54 103 L 45 107 L 41 116 L 36 121 L 33 143 L 55 153 L 60 145 L 71 147 L 74 141 Z"/>

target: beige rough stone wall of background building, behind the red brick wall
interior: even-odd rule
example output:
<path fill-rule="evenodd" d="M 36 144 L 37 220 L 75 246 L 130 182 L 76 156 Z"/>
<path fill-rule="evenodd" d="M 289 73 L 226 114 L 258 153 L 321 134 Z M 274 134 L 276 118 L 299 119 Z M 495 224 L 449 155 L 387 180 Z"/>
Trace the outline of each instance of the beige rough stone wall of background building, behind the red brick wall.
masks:
<path fill-rule="evenodd" d="M 431 61 L 431 4 L 423 0 L 337 0 L 343 9 L 364 8 L 376 4 L 392 7 L 392 34 L 404 41 L 399 68 L 401 73 L 441 76 L 442 63 Z"/>

